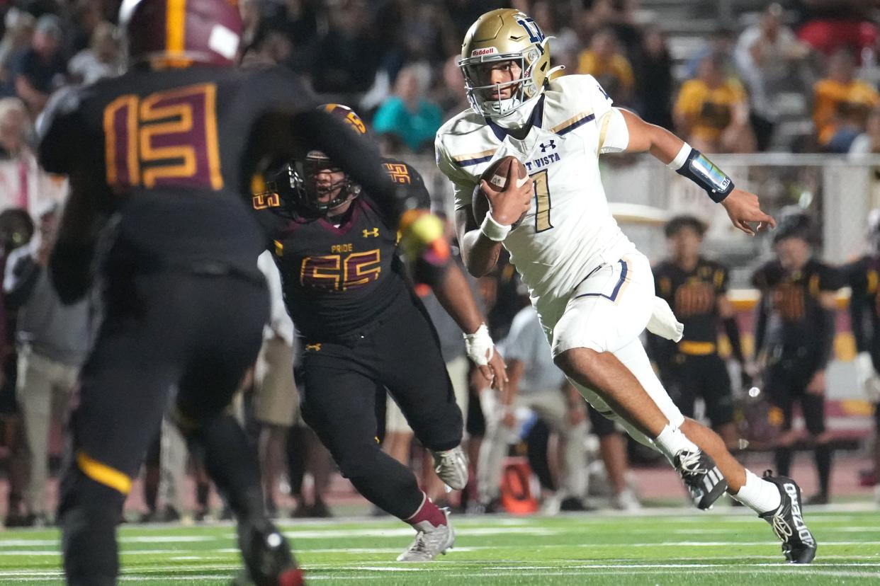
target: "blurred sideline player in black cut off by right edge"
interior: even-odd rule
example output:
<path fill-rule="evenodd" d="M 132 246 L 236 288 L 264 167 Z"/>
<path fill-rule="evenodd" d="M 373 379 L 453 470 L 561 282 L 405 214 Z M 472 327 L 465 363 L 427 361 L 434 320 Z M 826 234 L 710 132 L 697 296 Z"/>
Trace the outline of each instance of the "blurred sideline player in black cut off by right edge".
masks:
<path fill-rule="evenodd" d="M 870 250 L 844 269 L 852 288 L 849 322 L 853 329 L 859 387 L 874 402 L 874 424 L 880 434 L 880 208 L 868 215 Z M 880 435 L 878 435 L 880 437 Z M 874 442 L 874 484 L 880 499 L 880 442 Z"/>

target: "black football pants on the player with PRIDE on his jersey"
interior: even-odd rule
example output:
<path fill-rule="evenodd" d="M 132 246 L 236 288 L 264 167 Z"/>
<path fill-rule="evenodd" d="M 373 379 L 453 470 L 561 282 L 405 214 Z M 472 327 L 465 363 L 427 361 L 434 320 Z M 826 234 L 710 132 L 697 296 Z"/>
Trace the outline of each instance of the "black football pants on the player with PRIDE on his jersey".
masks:
<path fill-rule="evenodd" d="M 400 302 L 343 341 L 304 340 L 303 346 L 305 423 L 367 500 L 401 519 L 411 517 L 422 491 L 412 471 L 378 445 L 377 395 L 388 389 L 429 449 L 457 446 L 463 427 L 436 331 L 421 303 Z"/>

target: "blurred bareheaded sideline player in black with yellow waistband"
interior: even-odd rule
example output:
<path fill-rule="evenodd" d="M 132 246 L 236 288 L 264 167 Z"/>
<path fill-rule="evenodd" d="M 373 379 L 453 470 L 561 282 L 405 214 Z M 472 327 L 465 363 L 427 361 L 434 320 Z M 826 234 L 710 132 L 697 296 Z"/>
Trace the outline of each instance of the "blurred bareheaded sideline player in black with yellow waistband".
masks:
<path fill-rule="evenodd" d="M 690 215 L 672 218 L 665 228 L 670 257 L 654 267 L 656 294 L 669 303 L 685 324 L 678 344 L 648 334 L 651 358 L 672 400 L 686 417 L 693 417 L 698 396 L 706 402 L 706 415 L 729 450 L 737 449 L 737 426 L 733 421 L 730 376 L 718 356 L 718 325 L 730 340 L 746 384 L 745 360 L 739 327 L 727 298 L 727 268 L 700 255 L 706 226 Z"/>

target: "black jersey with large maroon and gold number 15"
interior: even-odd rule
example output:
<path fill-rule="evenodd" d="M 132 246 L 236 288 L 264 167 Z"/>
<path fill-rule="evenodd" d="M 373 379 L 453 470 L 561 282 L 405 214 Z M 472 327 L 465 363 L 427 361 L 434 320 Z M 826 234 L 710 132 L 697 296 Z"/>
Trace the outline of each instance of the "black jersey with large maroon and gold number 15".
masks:
<path fill-rule="evenodd" d="M 254 273 L 263 238 L 247 201 L 270 142 L 261 122 L 292 104 L 313 100 L 282 69 L 133 69 L 56 98 L 40 160 L 118 213 L 136 259 Z"/>

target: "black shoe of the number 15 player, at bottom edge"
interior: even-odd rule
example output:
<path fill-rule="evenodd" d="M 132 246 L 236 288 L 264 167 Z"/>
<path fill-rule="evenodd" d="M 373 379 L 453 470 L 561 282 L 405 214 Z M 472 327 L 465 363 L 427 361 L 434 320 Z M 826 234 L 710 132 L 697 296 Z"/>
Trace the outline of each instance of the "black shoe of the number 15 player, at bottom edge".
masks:
<path fill-rule="evenodd" d="M 268 519 L 238 525 L 238 546 L 247 577 L 256 586 L 300 586 L 302 571 L 287 539 Z"/>

